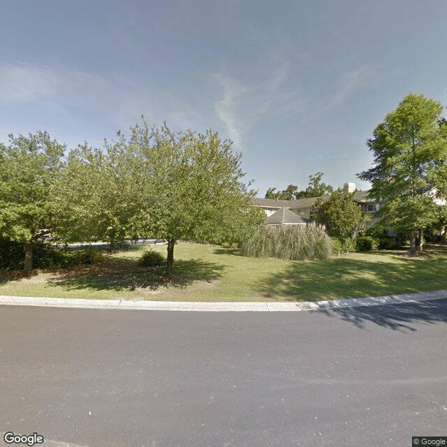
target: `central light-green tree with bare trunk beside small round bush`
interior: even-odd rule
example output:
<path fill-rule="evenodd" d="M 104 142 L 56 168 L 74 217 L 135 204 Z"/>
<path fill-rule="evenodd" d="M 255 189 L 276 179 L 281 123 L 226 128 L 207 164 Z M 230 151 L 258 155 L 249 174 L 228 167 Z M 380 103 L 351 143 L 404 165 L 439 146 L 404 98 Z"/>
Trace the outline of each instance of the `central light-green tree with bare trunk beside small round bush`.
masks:
<path fill-rule="evenodd" d="M 173 132 L 166 123 L 149 130 L 144 122 L 131 128 L 130 143 L 152 168 L 133 232 L 168 240 L 168 271 L 177 240 L 240 242 L 260 222 L 251 205 L 256 191 L 242 182 L 242 154 L 217 132 Z"/>

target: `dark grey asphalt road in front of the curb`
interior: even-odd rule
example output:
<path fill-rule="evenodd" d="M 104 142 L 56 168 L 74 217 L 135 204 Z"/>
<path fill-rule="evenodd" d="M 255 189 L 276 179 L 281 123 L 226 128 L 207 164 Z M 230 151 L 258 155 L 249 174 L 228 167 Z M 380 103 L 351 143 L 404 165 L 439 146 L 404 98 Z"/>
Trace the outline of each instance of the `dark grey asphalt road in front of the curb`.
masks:
<path fill-rule="evenodd" d="M 447 300 L 284 313 L 2 306 L 0 431 L 49 447 L 411 446 L 447 436 L 446 323 Z"/>

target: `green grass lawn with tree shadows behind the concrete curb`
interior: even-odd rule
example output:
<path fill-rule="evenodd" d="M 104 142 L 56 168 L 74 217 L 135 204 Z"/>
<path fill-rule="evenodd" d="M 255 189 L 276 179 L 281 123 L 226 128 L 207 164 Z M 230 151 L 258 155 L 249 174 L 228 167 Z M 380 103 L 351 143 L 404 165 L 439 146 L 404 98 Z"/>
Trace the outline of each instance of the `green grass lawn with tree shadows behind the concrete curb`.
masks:
<path fill-rule="evenodd" d="M 156 246 L 166 254 L 166 246 Z M 0 295 L 176 301 L 313 301 L 447 288 L 447 252 L 406 257 L 397 251 L 325 261 L 244 258 L 237 249 L 179 242 L 175 274 L 135 261 L 142 248 L 120 251 L 93 268 L 0 277 Z"/>

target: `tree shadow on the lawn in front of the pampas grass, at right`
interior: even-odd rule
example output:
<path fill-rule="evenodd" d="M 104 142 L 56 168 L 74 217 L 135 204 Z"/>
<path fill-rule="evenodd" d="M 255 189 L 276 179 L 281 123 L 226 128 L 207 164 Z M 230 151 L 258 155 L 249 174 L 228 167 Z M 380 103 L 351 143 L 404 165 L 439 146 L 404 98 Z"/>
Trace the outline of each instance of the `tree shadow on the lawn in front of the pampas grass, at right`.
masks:
<path fill-rule="evenodd" d="M 446 256 L 411 258 L 377 252 L 323 261 L 295 261 L 258 285 L 281 301 L 359 298 L 447 288 Z"/>

